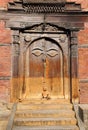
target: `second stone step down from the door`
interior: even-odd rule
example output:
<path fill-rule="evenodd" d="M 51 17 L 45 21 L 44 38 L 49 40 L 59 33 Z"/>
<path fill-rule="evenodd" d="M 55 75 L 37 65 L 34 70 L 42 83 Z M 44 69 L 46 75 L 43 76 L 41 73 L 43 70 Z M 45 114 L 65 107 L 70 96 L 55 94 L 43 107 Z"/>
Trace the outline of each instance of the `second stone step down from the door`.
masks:
<path fill-rule="evenodd" d="M 21 110 L 17 111 L 15 117 L 19 118 L 38 118 L 38 117 L 68 117 L 74 118 L 75 112 L 72 110 Z"/>

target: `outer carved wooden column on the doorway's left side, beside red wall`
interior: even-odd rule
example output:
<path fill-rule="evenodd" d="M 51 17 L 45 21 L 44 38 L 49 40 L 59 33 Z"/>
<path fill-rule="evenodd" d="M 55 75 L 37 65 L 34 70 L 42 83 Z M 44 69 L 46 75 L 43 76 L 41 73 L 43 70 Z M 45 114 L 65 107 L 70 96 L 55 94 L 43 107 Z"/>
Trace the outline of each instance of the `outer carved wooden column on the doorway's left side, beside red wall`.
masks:
<path fill-rule="evenodd" d="M 16 101 L 19 95 L 19 31 L 13 31 L 12 44 L 12 91 L 11 100 Z"/>

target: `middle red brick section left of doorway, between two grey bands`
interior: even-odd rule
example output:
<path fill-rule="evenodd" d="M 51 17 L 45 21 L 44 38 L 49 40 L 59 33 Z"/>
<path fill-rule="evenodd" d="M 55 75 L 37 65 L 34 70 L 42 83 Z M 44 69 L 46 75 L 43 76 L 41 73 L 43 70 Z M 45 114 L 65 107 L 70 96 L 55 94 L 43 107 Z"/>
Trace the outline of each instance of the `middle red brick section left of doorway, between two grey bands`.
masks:
<path fill-rule="evenodd" d="M 11 75 L 11 48 L 0 46 L 0 76 Z"/>

